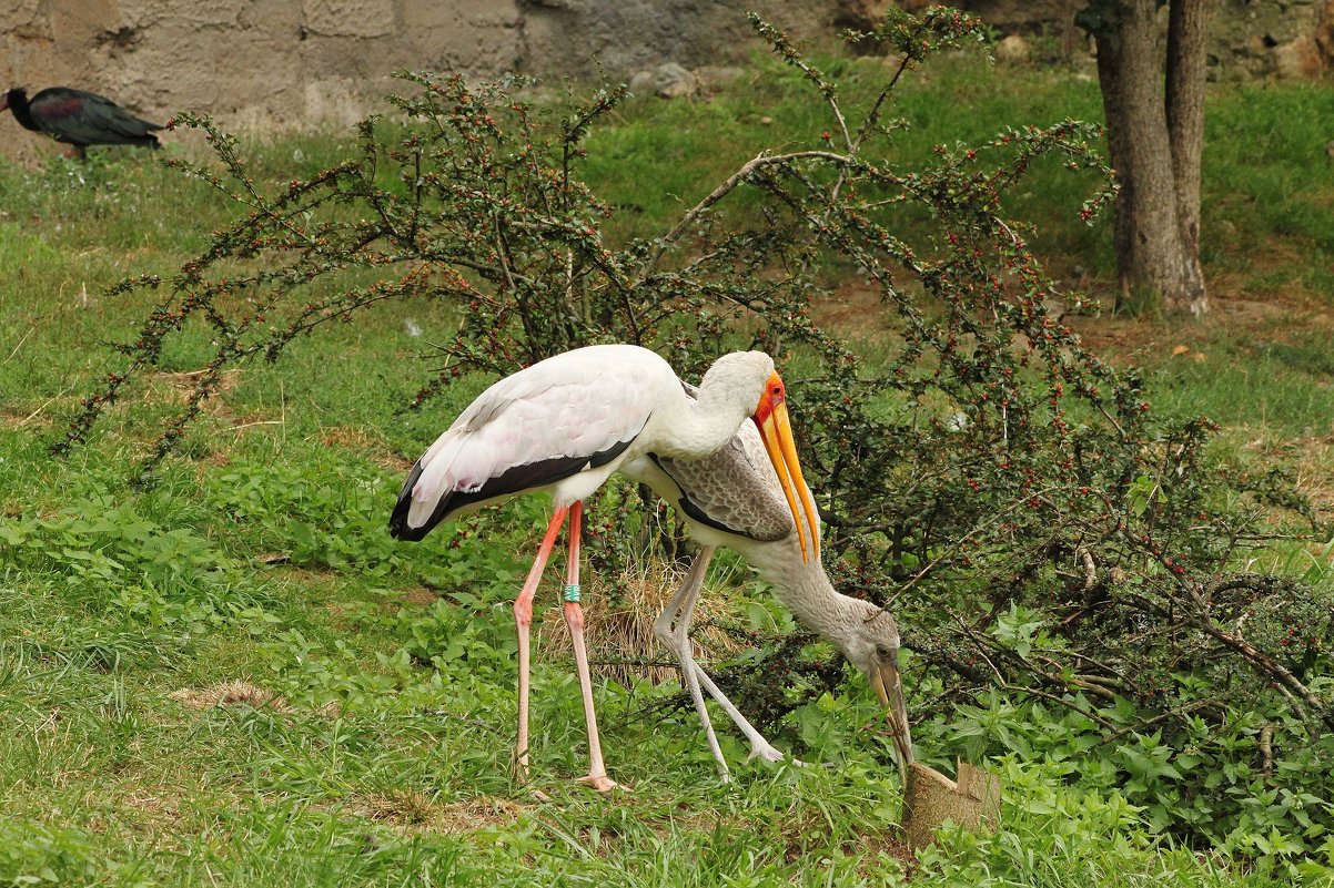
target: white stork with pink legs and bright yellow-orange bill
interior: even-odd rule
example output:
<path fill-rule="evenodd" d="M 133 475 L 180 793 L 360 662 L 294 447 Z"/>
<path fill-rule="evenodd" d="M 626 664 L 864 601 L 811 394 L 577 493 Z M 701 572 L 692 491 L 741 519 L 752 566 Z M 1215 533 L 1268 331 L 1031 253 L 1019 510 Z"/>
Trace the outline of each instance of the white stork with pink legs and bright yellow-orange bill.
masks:
<path fill-rule="evenodd" d="M 583 500 L 628 461 L 646 453 L 700 459 L 732 440 L 750 416 L 766 448 L 804 553 L 819 533 L 787 419 L 783 381 L 763 352 L 719 357 L 688 397 L 662 357 L 636 345 L 578 348 L 495 383 L 412 467 L 390 517 L 390 532 L 420 540 L 440 521 L 526 491 L 547 491 L 555 511 L 528 577 L 514 603 L 519 636 L 519 731 L 515 764 L 528 771 L 528 635 L 532 599 L 556 535 L 570 519 L 564 617 L 575 649 L 588 729 L 588 775 L 606 792 L 588 655 L 579 607 L 579 531 Z M 804 516 L 796 497 L 802 496 Z M 810 543 L 807 543 L 810 536 Z"/>

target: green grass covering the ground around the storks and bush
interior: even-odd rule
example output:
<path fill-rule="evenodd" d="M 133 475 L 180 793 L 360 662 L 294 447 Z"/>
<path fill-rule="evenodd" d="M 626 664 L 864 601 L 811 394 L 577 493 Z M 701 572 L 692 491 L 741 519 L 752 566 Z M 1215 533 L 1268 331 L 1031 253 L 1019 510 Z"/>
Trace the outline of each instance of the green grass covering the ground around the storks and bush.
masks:
<path fill-rule="evenodd" d="M 834 67 L 855 92 L 878 64 Z M 710 103 L 627 104 L 591 139 L 586 169 L 626 211 L 616 233 L 660 232 L 760 148 L 815 139 L 828 123 L 803 97 L 790 73 L 760 64 Z M 1231 228 L 1206 231 L 1206 260 L 1231 295 L 1301 285 L 1317 307 L 1334 297 L 1334 207 L 1327 183 L 1309 184 L 1322 167 L 1306 144 L 1331 105 L 1334 93 L 1309 87 L 1211 99 L 1206 225 Z M 1097 119 L 1099 104 L 1087 80 L 1000 77 L 963 59 L 911 81 L 895 113 L 915 121 L 894 143 L 908 163 L 998 121 Z M 331 163 L 339 141 L 253 153 L 261 177 L 285 181 Z M 1017 211 L 1041 227 L 1057 271 L 1082 264 L 1106 279 L 1106 223 L 1077 224 L 1086 187 L 1038 171 Z M 731 785 L 694 716 L 655 708 L 671 683 L 600 683 L 608 765 L 631 787 L 604 800 L 571 784 L 586 764 L 582 713 L 556 652 L 535 676 L 534 785 L 550 796 L 538 801 L 508 773 L 508 603 L 543 504 L 514 503 L 416 547 L 384 531 L 394 460 L 476 392 L 398 411 L 431 365 L 407 321 L 430 339 L 448 311 L 390 304 L 295 343 L 276 365 L 247 365 L 188 436 L 197 459 L 136 489 L 135 460 L 180 397 L 172 373 L 208 353 L 203 329 L 68 460 L 51 460 L 45 440 L 119 368 L 103 343 L 131 336 L 145 311 L 143 296 L 104 288 L 171 272 L 227 211 L 204 185 L 119 151 L 88 165 L 52 156 L 37 173 L 0 167 L 0 884 L 894 885 L 908 871 L 914 885 L 1301 880 L 1281 851 L 1174 849 L 1117 791 L 1015 756 L 992 763 L 1007 781 L 999 832 L 950 833 L 904 863 L 900 789 L 887 744 L 860 729 L 875 705 L 855 681 L 788 716 L 776 737 L 830 767 L 747 765 L 728 735 Z M 1169 344 L 1138 357 L 1155 404 L 1213 415 L 1238 461 L 1257 459 L 1246 444 L 1257 428 L 1271 448 L 1330 433 L 1334 367 L 1309 320 L 1190 328 L 1205 363 L 1170 357 L 1174 333 L 1154 329 Z M 755 616 L 751 595 L 730 592 L 736 620 Z M 191 705 L 227 683 L 249 689 Z M 939 761 L 962 749 L 944 725 L 923 725 L 918 743 Z M 1327 871 L 1310 867 L 1319 884 Z"/>

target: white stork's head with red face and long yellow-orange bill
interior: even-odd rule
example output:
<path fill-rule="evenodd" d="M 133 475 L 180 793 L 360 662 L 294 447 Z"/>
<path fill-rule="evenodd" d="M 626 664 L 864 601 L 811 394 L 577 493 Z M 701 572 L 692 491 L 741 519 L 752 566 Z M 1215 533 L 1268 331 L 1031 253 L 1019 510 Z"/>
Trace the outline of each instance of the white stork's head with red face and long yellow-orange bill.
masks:
<path fill-rule="evenodd" d="M 722 391 L 728 397 L 742 399 L 751 413 L 768 461 L 774 464 L 778 483 L 792 512 L 796 539 L 802 545 L 802 561 L 819 560 L 820 520 L 811 489 L 802 477 L 802 463 L 792 440 L 792 425 L 787 417 L 787 388 L 774 369 L 774 359 L 764 352 L 732 352 L 723 355 L 704 373 L 700 391 Z M 800 507 L 798 507 L 800 501 Z"/>

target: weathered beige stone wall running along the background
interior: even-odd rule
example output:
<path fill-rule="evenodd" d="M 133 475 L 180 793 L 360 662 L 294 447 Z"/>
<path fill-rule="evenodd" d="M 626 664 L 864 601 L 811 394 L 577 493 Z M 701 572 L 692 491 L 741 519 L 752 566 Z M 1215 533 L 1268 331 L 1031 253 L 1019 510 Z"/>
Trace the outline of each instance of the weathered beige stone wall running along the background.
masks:
<path fill-rule="evenodd" d="M 924 5 L 906 0 L 907 5 Z M 755 8 L 807 41 L 831 41 L 888 0 L 0 0 L 0 88 L 72 85 L 163 121 L 180 108 L 251 131 L 346 127 L 379 109 L 400 68 L 628 76 L 666 61 L 744 64 Z M 1081 0 L 964 0 L 1002 33 L 1087 52 Z M 1305 75 L 1334 61 L 1334 0 L 1221 0 L 1213 69 Z M 49 141 L 0 117 L 0 151 Z"/>

